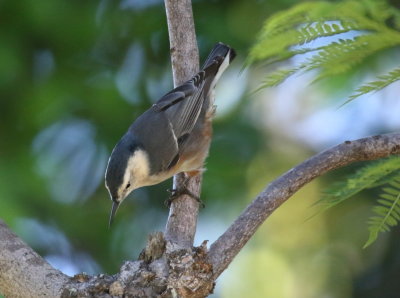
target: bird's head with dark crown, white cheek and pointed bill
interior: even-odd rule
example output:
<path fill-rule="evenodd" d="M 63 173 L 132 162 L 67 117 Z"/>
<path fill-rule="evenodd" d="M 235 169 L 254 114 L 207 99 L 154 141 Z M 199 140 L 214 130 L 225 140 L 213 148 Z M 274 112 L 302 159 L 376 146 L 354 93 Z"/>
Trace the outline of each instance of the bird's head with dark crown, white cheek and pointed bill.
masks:
<path fill-rule="evenodd" d="M 105 184 L 113 202 L 109 225 L 122 201 L 149 177 L 149 160 L 143 147 L 126 134 L 114 147 L 108 160 Z"/>

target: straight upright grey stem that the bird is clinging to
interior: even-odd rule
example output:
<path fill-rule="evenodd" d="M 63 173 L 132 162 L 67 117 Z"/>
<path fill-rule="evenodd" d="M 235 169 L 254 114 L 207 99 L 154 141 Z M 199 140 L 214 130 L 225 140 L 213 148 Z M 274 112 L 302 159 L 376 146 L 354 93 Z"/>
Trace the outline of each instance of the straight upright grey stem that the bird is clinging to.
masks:
<path fill-rule="evenodd" d="M 199 70 L 199 52 L 190 0 L 165 0 L 174 85 L 190 79 Z M 174 189 L 185 186 L 200 197 L 202 176 L 175 175 Z M 185 184 L 185 185 L 183 185 Z M 178 247 L 191 249 L 196 233 L 199 203 L 187 195 L 176 198 L 170 207 L 165 238 Z"/>

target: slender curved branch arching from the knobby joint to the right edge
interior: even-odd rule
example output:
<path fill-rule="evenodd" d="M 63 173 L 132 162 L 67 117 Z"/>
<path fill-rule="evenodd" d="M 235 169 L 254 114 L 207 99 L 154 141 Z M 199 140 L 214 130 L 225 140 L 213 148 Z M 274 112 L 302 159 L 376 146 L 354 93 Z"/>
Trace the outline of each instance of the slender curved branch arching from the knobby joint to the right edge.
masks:
<path fill-rule="evenodd" d="M 208 261 L 217 278 L 257 228 L 303 185 L 330 170 L 356 161 L 374 160 L 400 154 L 400 133 L 346 141 L 325 150 L 271 182 L 210 247 Z"/>

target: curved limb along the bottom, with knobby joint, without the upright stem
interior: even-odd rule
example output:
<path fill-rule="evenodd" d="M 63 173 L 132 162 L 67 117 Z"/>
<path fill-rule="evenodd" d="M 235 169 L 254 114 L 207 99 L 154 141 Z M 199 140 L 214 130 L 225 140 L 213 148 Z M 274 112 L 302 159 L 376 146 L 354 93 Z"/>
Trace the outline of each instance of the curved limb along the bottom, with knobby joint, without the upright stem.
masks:
<path fill-rule="evenodd" d="M 400 154 L 400 133 L 346 141 L 323 151 L 271 182 L 207 252 L 168 252 L 153 235 L 139 261 L 119 274 L 68 278 L 52 268 L 0 221 L 0 289 L 10 297 L 205 297 L 264 220 L 303 185 L 352 162 Z M 167 243 L 168 246 L 168 243 Z"/>

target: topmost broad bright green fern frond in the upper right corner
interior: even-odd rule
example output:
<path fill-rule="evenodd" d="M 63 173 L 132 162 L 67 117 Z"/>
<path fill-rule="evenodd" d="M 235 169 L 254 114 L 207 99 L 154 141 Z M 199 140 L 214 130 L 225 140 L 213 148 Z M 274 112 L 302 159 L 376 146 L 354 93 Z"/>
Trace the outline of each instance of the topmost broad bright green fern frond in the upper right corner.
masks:
<path fill-rule="evenodd" d="M 280 12 L 266 21 L 249 58 L 252 62 L 268 61 L 279 57 L 282 51 L 291 52 L 290 47 L 349 31 L 367 33 L 390 30 L 381 19 L 378 22 L 367 17 L 371 15 L 367 2 L 305 2 Z"/>

